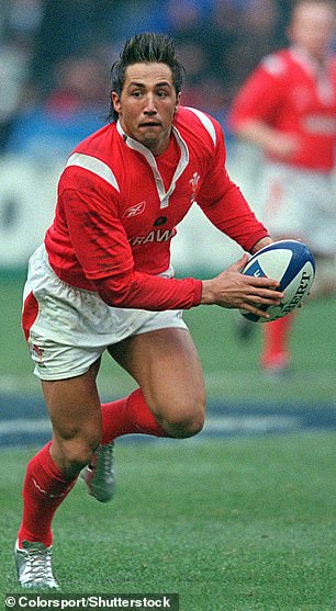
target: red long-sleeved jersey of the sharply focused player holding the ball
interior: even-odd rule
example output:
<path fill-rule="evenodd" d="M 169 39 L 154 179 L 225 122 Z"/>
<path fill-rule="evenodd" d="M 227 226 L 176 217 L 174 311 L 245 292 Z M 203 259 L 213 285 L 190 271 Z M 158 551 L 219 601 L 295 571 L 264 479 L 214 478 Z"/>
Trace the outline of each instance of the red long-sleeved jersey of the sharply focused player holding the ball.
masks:
<path fill-rule="evenodd" d="M 61 280 L 98 291 L 109 305 L 199 305 L 201 281 L 157 275 L 169 268 L 176 226 L 194 201 L 245 250 L 267 236 L 226 173 L 224 137 L 213 118 L 180 108 L 171 144 L 157 158 L 119 122 L 109 124 L 75 149 L 60 177 L 45 237 L 49 263 Z"/>

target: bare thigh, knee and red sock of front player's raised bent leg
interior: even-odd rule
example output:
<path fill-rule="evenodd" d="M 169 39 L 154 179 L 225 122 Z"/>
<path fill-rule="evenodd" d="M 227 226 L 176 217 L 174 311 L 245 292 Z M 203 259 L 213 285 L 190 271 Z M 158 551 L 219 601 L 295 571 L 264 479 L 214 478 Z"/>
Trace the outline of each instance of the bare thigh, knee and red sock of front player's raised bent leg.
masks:
<path fill-rule="evenodd" d="M 202 429 L 204 381 L 188 329 L 164 328 L 132 336 L 109 351 L 139 388 L 124 403 L 124 421 L 133 430 L 125 430 L 122 421 L 114 423 L 112 412 L 121 411 L 119 401 L 102 407 L 104 441 L 136 431 L 184 438 Z"/>

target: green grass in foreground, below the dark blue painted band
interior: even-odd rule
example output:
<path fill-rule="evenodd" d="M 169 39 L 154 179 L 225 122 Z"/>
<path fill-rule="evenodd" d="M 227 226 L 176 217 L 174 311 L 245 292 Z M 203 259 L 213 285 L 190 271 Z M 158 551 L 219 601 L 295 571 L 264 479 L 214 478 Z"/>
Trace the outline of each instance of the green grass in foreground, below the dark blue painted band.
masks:
<path fill-rule="evenodd" d="M 178 592 L 181 611 L 332 611 L 335 434 L 119 443 L 115 499 L 79 482 L 54 520 L 63 591 Z M 0 591 L 34 449 L 2 451 Z"/>

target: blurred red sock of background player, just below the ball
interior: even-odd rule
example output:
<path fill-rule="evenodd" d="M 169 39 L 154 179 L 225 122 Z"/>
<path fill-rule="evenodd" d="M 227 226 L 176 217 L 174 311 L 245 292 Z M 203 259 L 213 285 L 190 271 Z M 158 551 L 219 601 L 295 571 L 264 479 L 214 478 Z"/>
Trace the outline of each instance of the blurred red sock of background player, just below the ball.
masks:
<path fill-rule="evenodd" d="M 281 367 L 289 364 L 289 331 L 293 315 L 289 314 L 273 323 L 264 325 L 264 349 L 261 365 L 264 367 Z"/>

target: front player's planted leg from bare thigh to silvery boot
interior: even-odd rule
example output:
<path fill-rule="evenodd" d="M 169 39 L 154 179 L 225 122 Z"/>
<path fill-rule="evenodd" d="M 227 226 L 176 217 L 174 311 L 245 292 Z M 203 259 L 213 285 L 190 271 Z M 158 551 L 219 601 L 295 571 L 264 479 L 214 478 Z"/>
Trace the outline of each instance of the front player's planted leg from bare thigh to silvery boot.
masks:
<path fill-rule="evenodd" d="M 53 440 L 29 463 L 15 546 L 21 585 L 57 587 L 52 570 L 52 520 L 101 439 L 98 364 L 80 376 L 43 382 Z"/>

